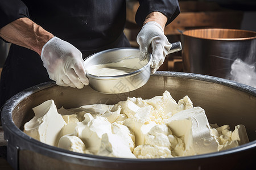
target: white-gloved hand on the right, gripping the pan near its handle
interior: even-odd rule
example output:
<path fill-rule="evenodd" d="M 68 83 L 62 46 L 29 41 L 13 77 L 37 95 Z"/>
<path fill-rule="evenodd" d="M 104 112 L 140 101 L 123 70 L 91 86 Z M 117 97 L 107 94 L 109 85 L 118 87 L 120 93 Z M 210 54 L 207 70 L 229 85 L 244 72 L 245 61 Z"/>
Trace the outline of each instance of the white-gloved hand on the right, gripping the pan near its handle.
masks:
<path fill-rule="evenodd" d="M 164 35 L 163 28 L 156 22 L 148 22 L 143 25 L 141 31 L 138 33 L 137 42 L 141 55 L 139 59 L 146 59 L 150 54 L 150 45 L 152 48 L 152 63 L 151 74 L 154 74 L 159 69 L 160 65 L 164 62 L 164 58 L 168 54 L 168 50 L 172 45 Z"/>

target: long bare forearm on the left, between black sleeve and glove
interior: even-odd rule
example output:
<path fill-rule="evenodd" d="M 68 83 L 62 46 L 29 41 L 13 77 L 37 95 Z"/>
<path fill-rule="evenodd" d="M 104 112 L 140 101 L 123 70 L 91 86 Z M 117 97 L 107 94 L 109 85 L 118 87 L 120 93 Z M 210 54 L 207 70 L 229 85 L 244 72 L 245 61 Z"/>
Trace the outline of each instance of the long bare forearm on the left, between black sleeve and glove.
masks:
<path fill-rule="evenodd" d="M 13 44 L 34 50 L 41 55 L 46 42 L 53 37 L 38 24 L 28 18 L 16 19 L 0 29 L 0 36 Z"/>

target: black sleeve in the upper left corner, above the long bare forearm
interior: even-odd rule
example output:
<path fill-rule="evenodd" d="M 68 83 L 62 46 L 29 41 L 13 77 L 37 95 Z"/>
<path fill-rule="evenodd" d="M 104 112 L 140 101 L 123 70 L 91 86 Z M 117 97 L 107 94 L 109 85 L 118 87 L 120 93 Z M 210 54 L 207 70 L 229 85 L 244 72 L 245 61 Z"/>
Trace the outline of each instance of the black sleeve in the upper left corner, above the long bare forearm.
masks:
<path fill-rule="evenodd" d="M 29 18 L 27 6 L 20 0 L 0 0 L 0 28 L 19 18 Z"/>

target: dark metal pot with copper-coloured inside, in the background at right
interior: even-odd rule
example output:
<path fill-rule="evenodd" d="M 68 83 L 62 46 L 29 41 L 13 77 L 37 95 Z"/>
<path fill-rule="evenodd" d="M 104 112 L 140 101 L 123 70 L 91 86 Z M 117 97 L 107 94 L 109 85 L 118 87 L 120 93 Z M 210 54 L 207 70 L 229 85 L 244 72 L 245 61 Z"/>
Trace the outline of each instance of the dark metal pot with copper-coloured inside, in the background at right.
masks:
<path fill-rule="evenodd" d="M 239 29 L 192 29 L 181 36 L 185 72 L 229 79 L 231 65 L 240 58 L 256 62 L 256 32 Z"/>

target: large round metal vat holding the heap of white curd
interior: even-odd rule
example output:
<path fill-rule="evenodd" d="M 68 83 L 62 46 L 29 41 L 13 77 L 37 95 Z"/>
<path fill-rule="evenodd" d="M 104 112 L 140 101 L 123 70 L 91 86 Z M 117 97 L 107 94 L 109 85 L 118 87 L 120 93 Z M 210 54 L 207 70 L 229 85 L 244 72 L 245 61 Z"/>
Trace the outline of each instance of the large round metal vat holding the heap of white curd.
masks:
<path fill-rule="evenodd" d="M 23 133 L 32 108 L 53 99 L 57 108 L 86 104 L 115 104 L 127 96 L 151 97 L 170 91 L 176 101 L 188 95 L 205 109 L 210 123 L 246 126 L 250 143 L 211 154 L 167 159 L 122 159 L 80 154 L 48 146 Z M 256 88 L 206 75 L 157 71 L 141 88 L 125 94 L 102 94 L 90 86 L 81 90 L 39 84 L 12 97 L 2 109 L 8 161 L 15 169 L 251 169 L 256 156 Z M 32 160 L 32 161 L 31 161 Z M 223 162 L 224 164 L 221 164 Z"/>

